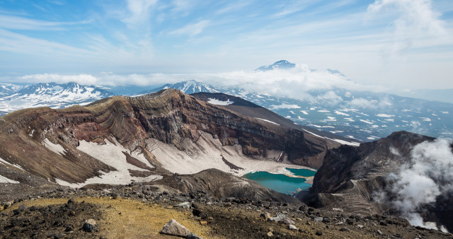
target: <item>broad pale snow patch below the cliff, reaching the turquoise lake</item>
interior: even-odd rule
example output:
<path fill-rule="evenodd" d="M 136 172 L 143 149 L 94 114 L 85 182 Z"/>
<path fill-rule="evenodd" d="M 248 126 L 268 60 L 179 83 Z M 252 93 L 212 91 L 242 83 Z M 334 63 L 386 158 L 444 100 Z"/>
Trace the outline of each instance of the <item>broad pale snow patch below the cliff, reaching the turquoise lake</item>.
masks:
<path fill-rule="evenodd" d="M 179 174 L 193 174 L 217 168 L 226 173 L 242 176 L 251 171 L 277 173 L 284 168 L 306 168 L 285 163 L 287 156 L 282 151 L 270 150 L 267 158 L 248 158 L 243 155 L 241 145 L 222 146 L 220 140 L 212 138 L 211 134 L 199 132 L 200 138 L 196 142 L 184 139 L 182 145 L 185 149 L 182 151 L 173 144 L 165 144 L 157 139 L 147 139 L 147 148 L 156 156 L 162 167 Z M 231 169 L 224 163 L 223 158 L 242 169 Z M 283 159 L 283 163 L 277 163 L 277 159 Z"/>

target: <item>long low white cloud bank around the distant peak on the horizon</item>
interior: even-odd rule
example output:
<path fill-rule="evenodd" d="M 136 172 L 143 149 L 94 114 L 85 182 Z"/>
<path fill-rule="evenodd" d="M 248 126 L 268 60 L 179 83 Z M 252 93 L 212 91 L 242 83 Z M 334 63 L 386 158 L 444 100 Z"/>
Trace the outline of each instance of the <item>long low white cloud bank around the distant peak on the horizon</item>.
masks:
<path fill-rule="evenodd" d="M 84 85 L 105 86 L 158 86 L 195 79 L 215 87 L 239 87 L 248 93 L 260 93 L 276 97 L 300 100 L 323 100 L 332 104 L 341 102 L 341 97 L 331 91 L 343 88 L 348 91 L 384 91 L 377 86 L 363 86 L 345 78 L 343 74 L 328 70 L 311 70 L 305 64 L 291 70 L 232 71 L 219 74 L 33 74 L 11 78 L 16 83 L 74 81 Z M 310 91 L 325 91 L 314 98 Z M 372 103 L 357 102 L 357 105 Z"/>

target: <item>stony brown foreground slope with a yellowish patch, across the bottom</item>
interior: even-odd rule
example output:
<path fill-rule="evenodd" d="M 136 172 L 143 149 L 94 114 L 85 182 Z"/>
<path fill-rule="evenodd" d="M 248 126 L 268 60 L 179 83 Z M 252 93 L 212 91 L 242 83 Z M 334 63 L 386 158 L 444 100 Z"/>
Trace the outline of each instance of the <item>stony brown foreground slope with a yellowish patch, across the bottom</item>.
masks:
<path fill-rule="evenodd" d="M 2 202 L 0 238 L 174 238 L 160 233 L 171 219 L 202 238 L 453 238 L 393 216 L 216 199 L 207 192 L 162 191 L 156 185 L 100 186 Z M 92 231 L 87 221 L 96 223 Z"/>

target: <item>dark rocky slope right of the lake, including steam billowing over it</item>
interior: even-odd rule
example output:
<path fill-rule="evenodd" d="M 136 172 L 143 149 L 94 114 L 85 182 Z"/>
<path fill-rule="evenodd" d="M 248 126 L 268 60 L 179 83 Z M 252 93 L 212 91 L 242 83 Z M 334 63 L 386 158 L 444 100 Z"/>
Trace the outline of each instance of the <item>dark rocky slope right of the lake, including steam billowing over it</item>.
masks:
<path fill-rule="evenodd" d="M 449 206 L 452 192 L 447 190 L 452 179 L 442 170 L 452 170 L 453 147 L 447 143 L 447 148 L 442 148 L 437 142 L 428 136 L 395 132 L 357 148 L 333 148 L 326 153 L 311 192 L 298 197 L 319 208 L 341 207 L 361 215 L 401 215 L 420 226 L 452 231 L 452 220 L 447 217 L 453 212 Z M 444 155 L 431 152 L 442 150 L 446 150 Z M 437 168 L 436 162 L 444 159 L 445 166 Z M 445 177 L 433 170 L 440 170 Z M 423 183 L 426 181 L 432 185 Z M 429 193 L 437 188 L 437 194 Z"/>

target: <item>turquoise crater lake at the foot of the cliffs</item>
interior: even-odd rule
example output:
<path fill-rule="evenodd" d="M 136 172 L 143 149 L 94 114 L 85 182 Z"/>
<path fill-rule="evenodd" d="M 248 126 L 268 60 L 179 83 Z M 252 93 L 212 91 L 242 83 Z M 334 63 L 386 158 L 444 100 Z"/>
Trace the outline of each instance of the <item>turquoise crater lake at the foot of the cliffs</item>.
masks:
<path fill-rule="evenodd" d="M 306 190 L 311 187 L 311 184 L 306 183 L 306 179 L 303 177 L 313 177 L 316 171 L 295 168 L 286 169 L 293 174 L 292 177 L 285 174 L 273 174 L 263 171 L 247 173 L 246 175 L 243 175 L 243 177 L 256 181 L 260 185 L 268 187 L 271 190 L 285 194 L 292 194 L 292 192 L 295 192 L 298 188 L 301 190 Z"/>

